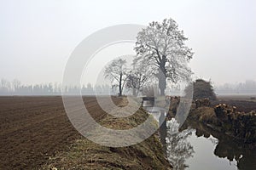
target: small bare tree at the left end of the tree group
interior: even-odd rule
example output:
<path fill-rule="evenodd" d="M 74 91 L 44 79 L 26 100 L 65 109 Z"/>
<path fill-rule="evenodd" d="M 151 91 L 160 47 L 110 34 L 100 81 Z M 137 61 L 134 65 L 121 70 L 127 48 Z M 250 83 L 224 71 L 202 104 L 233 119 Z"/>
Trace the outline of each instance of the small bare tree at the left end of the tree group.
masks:
<path fill-rule="evenodd" d="M 126 68 L 125 59 L 114 59 L 104 71 L 105 78 L 109 78 L 111 82 L 117 82 L 119 85 L 119 96 L 123 94 L 125 82 L 129 75 L 128 69 Z"/>

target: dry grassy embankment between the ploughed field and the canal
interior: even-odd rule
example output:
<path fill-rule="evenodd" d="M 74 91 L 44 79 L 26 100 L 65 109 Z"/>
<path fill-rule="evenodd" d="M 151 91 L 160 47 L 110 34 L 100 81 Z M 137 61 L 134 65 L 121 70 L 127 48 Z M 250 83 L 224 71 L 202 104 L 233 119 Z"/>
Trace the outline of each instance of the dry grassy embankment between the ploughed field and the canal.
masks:
<path fill-rule="evenodd" d="M 125 106 L 122 99 L 119 106 Z M 129 110 L 129 108 L 127 108 Z M 148 113 L 140 109 L 132 116 L 117 118 L 104 116 L 99 123 L 113 129 L 129 129 L 137 127 L 148 118 Z M 152 124 L 156 121 L 152 118 Z M 117 139 L 119 140 L 119 139 Z M 164 156 L 159 134 L 156 132 L 139 144 L 128 147 L 107 147 L 91 142 L 89 139 L 79 139 L 70 145 L 69 149 L 49 158 L 43 169 L 171 169 Z"/>

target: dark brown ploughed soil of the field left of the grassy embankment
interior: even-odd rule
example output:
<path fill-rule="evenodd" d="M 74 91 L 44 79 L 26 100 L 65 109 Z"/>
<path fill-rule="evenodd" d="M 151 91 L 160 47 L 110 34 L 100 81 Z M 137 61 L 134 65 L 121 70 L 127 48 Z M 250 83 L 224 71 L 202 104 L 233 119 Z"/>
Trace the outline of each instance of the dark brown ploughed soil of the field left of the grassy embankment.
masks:
<path fill-rule="evenodd" d="M 106 115 L 96 98 L 84 102 L 95 120 Z M 35 169 L 81 138 L 61 97 L 0 97 L 0 169 Z"/>

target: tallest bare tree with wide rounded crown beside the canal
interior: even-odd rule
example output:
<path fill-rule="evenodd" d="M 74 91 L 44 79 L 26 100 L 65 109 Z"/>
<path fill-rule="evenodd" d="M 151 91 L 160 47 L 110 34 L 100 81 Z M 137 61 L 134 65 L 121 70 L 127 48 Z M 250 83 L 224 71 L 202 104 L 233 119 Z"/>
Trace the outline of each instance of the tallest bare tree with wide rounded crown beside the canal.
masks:
<path fill-rule="evenodd" d="M 160 95 L 165 95 L 166 78 L 171 82 L 189 78 L 188 63 L 193 53 L 184 44 L 187 39 L 172 19 L 162 23 L 153 21 L 138 33 L 134 62 L 151 65 L 159 80 Z"/>

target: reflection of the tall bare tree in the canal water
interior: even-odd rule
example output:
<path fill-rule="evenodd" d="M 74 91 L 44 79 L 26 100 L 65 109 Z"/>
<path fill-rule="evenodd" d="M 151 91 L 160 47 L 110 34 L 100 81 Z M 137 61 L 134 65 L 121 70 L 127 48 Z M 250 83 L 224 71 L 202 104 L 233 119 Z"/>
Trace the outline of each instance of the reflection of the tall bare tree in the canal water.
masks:
<path fill-rule="evenodd" d="M 193 156 L 195 152 L 193 146 L 189 143 L 189 136 L 192 134 L 192 129 L 185 129 L 178 132 L 179 124 L 172 118 L 166 122 L 167 137 L 166 137 L 166 153 L 168 161 L 172 164 L 175 170 L 183 170 L 186 159 Z"/>

